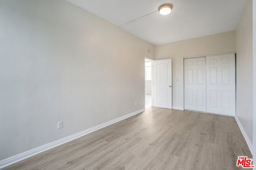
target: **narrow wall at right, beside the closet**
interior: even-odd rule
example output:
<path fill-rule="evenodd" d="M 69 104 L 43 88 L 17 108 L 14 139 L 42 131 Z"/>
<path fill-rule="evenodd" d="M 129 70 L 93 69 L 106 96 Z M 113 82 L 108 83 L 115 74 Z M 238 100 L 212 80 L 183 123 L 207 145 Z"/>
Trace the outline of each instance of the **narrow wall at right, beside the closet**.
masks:
<path fill-rule="evenodd" d="M 236 29 L 236 116 L 253 142 L 252 0 L 248 0 Z"/>

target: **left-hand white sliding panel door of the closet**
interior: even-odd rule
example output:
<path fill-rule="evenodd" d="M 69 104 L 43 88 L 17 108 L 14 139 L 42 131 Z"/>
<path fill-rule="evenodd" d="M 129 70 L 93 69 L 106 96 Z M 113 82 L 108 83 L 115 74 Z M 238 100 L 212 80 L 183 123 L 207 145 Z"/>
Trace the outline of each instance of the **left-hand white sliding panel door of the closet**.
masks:
<path fill-rule="evenodd" d="M 205 57 L 184 59 L 184 109 L 206 112 Z"/>

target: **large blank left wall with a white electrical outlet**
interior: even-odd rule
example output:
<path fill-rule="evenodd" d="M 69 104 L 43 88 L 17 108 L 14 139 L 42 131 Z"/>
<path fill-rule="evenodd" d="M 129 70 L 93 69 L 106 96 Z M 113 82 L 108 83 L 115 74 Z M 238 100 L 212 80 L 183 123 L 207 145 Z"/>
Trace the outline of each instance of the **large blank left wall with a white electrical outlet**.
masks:
<path fill-rule="evenodd" d="M 144 108 L 153 54 L 65 0 L 0 0 L 0 160 Z"/>

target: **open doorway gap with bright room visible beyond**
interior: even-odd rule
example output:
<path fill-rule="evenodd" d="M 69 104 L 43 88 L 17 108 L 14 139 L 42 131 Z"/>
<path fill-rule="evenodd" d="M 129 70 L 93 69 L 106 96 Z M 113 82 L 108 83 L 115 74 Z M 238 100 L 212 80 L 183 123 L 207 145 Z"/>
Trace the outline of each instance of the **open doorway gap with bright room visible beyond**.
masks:
<path fill-rule="evenodd" d="M 152 106 L 152 61 L 145 58 L 145 108 Z"/>

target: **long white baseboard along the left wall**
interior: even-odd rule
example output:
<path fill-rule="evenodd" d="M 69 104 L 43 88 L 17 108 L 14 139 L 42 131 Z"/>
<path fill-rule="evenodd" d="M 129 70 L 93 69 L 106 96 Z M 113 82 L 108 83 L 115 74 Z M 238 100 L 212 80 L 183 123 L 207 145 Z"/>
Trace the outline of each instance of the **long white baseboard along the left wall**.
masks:
<path fill-rule="evenodd" d="M 23 153 L 14 155 L 14 156 L 12 156 L 12 157 L 10 157 L 10 158 L 6 158 L 6 159 L 4 159 L 4 160 L 0 160 L 0 169 L 1 169 L 1 168 L 4 168 L 4 167 L 6 167 L 6 166 L 9 166 L 9 165 L 11 165 L 11 164 L 14 164 L 14 163 L 16 163 L 16 162 L 19 162 L 19 161 L 21 161 L 21 160 L 24 160 L 24 159 L 26 159 L 26 158 L 29 158 L 29 157 L 31 157 L 31 156 L 34 156 L 34 155 L 36 155 L 36 154 L 39 154 L 39 153 L 41 153 L 41 152 L 44 152 L 44 151 L 46 151 L 46 150 L 49 150 L 49 149 L 52 149 L 52 148 L 57 147 L 57 146 L 59 146 L 59 145 L 62 145 L 62 144 L 64 144 L 64 143 L 73 141 L 74 139 L 77 139 L 77 138 L 79 138 L 79 137 L 82 137 L 82 136 L 84 136 L 84 135 L 87 135 L 87 134 L 89 134 L 89 133 L 92 133 L 92 132 L 94 132 L 94 131 L 97 131 L 97 130 L 99 130 L 99 129 L 102 129 L 103 127 L 112 125 L 112 124 L 114 124 L 114 123 L 116 123 L 116 122 L 118 122 L 118 121 L 121 121 L 121 120 L 126 119 L 126 118 L 128 118 L 128 117 L 131 117 L 131 116 L 136 115 L 136 114 L 138 114 L 138 113 L 141 113 L 141 112 L 143 112 L 143 111 L 145 111 L 145 108 L 144 108 L 144 109 L 137 110 L 137 111 L 134 111 L 134 112 L 129 113 L 129 114 L 127 114 L 127 115 L 124 115 L 124 116 L 122 116 L 122 117 L 118 117 L 118 118 L 116 118 L 116 119 L 114 119 L 114 120 L 111 120 L 111 121 L 108 121 L 108 122 L 106 122 L 106 123 L 102 123 L 102 124 L 97 125 L 97 126 L 95 126 L 95 127 L 86 129 L 85 131 L 78 132 L 78 133 L 76 133 L 76 134 L 74 134 L 74 135 L 70 135 L 70 136 L 68 136 L 68 137 L 64 137 L 64 138 L 62 138 L 62 139 L 59 139 L 59 140 L 57 140 L 57 141 L 48 143 L 48 144 L 46 144 L 46 145 L 42 145 L 42 146 L 40 146 L 40 147 L 37 147 L 37 148 L 31 149 L 31 150 L 28 150 L 28 151 L 26 151 L 26 152 L 23 152 Z"/>

